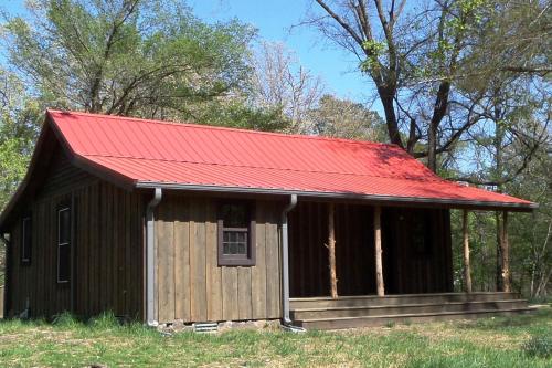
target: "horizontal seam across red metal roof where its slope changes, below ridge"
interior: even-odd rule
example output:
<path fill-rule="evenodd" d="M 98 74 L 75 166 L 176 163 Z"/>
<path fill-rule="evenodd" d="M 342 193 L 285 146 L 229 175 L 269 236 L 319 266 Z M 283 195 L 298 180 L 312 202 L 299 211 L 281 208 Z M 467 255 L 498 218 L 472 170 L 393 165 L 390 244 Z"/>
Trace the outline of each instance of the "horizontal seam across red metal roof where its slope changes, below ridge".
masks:
<path fill-rule="evenodd" d="M 280 171 L 294 171 L 294 172 L 311 172 L 311 174 L 338 174 L 338 175 L 348 175 L 348 176 L 357 176 L 357 177 L 370 177 L 370 178 L 386 178 L 386 179 L 404 179 L 404 180 L 416 180 L 416 181 L 426 181 L 426 182 L 436 182 L 436 181 L 448 181 L 446 179 L 440 178 L 437 175 L 433 175 L 431 178 L 414 178 L 412 176 L 383 176 L 383 175 L 369 175 L 369 174 L 358 174 L 358 172 L 340 172 L 340 171 L 320 171 L 320 170 L 299 170 L 299 169 L 290 169 L 290 168 L 278 168 L 278 167 L 266 167 L 266 166 L 251 166 L 251 165 L 232 165 L 232 164 L 223 164 L 223 162 L 200 162 L 200 161 L 191 161 L 191 160 L 173 160 L 173 159 L 164 159 L 164 158 L 145 158 L 145 157 L 131 157 L 131 156 L 117 156 L 117 155 L 77 155 L 82 157 L 103 157 L 103 158 L 118 158 L 118 159 L 130 159 L 130 160 L 148 160 L 148 161 L 162 161 L 162 162 L 182 162 L 182 164 L 192 164 L 192 165 L 212 165 L 212 166 L 225 166 L 225 167 L 240 167 L 240 168 L 250 168 L 250 169 L 265 169 L 265 170 L 280 170 Z"/>

